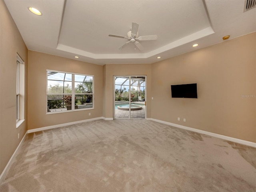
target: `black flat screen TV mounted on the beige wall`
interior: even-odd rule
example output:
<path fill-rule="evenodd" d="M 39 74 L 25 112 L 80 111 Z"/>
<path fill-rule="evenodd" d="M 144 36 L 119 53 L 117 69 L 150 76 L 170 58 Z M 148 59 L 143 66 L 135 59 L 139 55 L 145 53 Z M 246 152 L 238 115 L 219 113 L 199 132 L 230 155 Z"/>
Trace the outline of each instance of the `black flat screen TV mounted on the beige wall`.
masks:
<path fill-rule="evenodd" d="M 197 85 L 181 84 L 171 85 L 172 98 L 197 98 Z"/>

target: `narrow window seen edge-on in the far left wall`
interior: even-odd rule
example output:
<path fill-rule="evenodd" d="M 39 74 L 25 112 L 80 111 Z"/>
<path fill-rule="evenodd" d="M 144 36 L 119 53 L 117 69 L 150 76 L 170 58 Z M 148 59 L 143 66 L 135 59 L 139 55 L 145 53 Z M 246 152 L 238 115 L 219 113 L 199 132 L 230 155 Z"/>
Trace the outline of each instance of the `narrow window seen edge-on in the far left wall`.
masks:
<path fill-rule="evenodd" d="M 17 54 L 16 60 L 16 128 L 24 122 L 25 65 Z"/>

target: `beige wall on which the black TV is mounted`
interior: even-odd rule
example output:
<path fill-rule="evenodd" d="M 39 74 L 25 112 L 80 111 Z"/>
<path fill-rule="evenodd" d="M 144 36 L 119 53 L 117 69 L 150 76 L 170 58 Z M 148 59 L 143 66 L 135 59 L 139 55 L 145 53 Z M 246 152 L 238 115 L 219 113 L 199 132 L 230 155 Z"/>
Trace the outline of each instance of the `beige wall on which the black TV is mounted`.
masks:
<path fill-rule="evenodd" d="M 187 83 L 198 99 L 171 98 L 170 85 Z M 252 33 L 152 64 L 152 118 L 256 142 L 255 89 Z"/>

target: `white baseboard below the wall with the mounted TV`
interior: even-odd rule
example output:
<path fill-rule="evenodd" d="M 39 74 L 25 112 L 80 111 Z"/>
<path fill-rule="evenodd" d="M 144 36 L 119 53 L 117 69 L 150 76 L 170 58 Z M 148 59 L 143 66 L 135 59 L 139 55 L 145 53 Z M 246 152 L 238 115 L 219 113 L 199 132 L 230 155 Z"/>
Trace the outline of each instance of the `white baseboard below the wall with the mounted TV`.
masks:
<path fill-rule="evenodd" d="M 228 140 L 228 141 L 248 145 L 248 146 L 251 146 L 251 147 L 256 147 L 256 143 L 246 141 L 246 140 L 241 140 L 241 139 L 237 139 L 237 138 L 233 138 L 233 137 L 228 137 L 228 136 L 224 136 L 224 135 L 220 135 L 220 134 L 216 134 L 216 133 L 212 133 L 212 132 L 208 132 L 208 131 L 203 131 L 203 130 L 199 130 L 199 129 L 195 129 L 195 128 L 191 128 L 191 127 L 187 127 L 187 126 L 183 126 L 183 125 L 178 125 L 178 124 L 174 124 L 174 123 L 170 123 L 170 122 L 166 122 L 166 121 L 162 121 L 162 120 L 158 120 L 158 119 L 147 118 L 147 120 L 152 120 L 152 121 L 155 121 L 155 122 L 159 122 L 159 123 L 167 124 L 167 125 L 170 125 L 170 126 L 174 126 L 174 127 L 194 131 L 194 132 L 197 132 L 197 133 L 202 133 L 202 134 L 217 137 L 217 138 L 220 138 L 220 139 L 224 139 L 224 140 Z"/>

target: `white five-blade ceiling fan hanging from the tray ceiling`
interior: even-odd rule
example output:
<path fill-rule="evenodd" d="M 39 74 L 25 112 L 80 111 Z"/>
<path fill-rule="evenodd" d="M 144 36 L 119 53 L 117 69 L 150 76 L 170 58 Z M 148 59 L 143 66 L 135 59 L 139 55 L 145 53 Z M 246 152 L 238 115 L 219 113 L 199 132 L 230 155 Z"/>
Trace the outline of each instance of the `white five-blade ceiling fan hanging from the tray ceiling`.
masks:
<path fill-rule="evenodd" d="M 127 36 L 120 36 L 120 35 L 108 35 L 110 37 L 118 37 L 118 38 L 124 38 L 124 39 L 128 39 L 128 41 L 122 45 L 122 47 L 120 47 L 119 49 L 122 49 L 125 45 L 127 45 L 128 43 L 132 42 L 134 43 L 134 45 L 140 50 L 142 51 L 144 48 L 143 46 L 140 44 L 140 42 L 138 41 L 145 41 L 145 40 L 156 40 L 157 39 L 157 35 L 147 35 L 147 36 L 139 36 L 138 35 L 138 28 L 139 28 L 139 24 L 136 22 L 132 22 L 132 27 L 131 30 L 127 33 Z"/>

